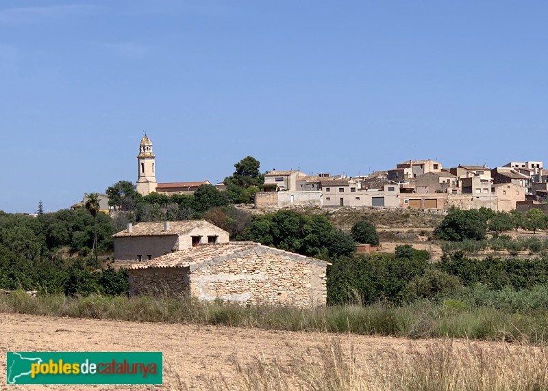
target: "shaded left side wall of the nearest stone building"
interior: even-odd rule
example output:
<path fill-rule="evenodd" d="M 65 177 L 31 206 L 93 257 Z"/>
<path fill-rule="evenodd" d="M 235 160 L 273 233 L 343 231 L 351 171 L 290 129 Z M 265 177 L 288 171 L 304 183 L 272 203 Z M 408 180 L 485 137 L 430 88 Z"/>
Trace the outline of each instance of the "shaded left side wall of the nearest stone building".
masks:
<path fill-rule="evenodd" d="M 130 296 L 182 296 L 188 293 L 188 267 L 129 269 Z"/>

